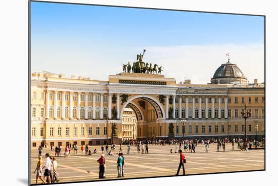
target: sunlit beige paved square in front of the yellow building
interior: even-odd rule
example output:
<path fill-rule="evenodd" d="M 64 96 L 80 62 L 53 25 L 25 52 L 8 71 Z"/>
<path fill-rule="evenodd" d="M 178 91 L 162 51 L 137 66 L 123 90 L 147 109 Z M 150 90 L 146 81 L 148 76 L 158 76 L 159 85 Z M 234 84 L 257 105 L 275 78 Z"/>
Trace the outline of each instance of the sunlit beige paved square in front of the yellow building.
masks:
<path fill-rule="evenodd" d="M 110 148 L 110 147 L 109 147 Z M 62 148 L 63 149 L 63 148 Z M 97 155 L 86 156 L 81 154 L 80 147 L 77 155 L 71 151 L 71 157 L 57 157 L 58 171 L 60 182 L 100 180 L 99 165 L 97 160 L 101 154 L 101 146 L 89 146 L 89 150 L 98 149 Z M 179 154 L 170 154 L 170 149 L 174 151 L 175 145 L 149 145 L 149 154 L 137 154 L 137 148 L 131 146 L 130 154 L 127 153 L 126 145 L 122 146 L 125 157 L 125 176 L 122 178 L 133 177 L 153 177 L 153 176 L 172 176 L 176 173 L 179 164 Z M 183 149 L 182 149 L 183 150 Z M 119 145 L 116 146 L 114 153 L 119 151 Z M 50 148 L 43 149 L 44 154 L 50 153 L 55 155 Z M 145 153 L 145 152 L 144 152 Z M 35 174 L 33 171 L 37 162 L 37 148 L 31 149 L 31 183 L 35 183 Z M 61 154 L 64 154 L 61 152 Z M 211 144 L 209 152 L 205 152 L 204 145 L 198 145 L 196 153 L 184 153 L 187 159 L 186 174 L 246 171 L 246 170 L 263 170 L 264 169 L 264 150 L 248 150 L 243 152 L 237 149 L 231 151 L 231 144 L 226 145 L 226 151 L 220 149 L 216 152 L 216 144 Z M 117 155 L 105 156 L 106 158 L 106 178 L 105 179 L 122 179 L 117 178 Z M 89 171 L 89 172 L 87 172 Z M 181 172 L 182 173 L 182 170 Z M 39 183 L 41 183 L 39 181 Z"/>

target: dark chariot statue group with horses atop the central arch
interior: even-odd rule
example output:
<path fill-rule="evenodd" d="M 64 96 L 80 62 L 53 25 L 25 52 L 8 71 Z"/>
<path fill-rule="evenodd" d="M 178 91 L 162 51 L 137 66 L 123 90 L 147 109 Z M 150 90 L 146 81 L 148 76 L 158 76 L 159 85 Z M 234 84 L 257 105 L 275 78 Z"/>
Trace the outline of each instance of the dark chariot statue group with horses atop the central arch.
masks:
<path fill-rule="evenodd" d="M 162 67 L 158 67 L 157 64 L 154 64 L 154 66 L 152 66 L 152 63 L 145 63 L 143 61 L 143 56 L 144 56 L 144 53 L 146 52 L 147 50 L 144 49 L 143 50 L 143 54 L 140 53 L 140 54 L 137 54 L 137 57 L 136 57 L 136 62 L 134 61 L 133 62 L 133 65 L 131 67 L 130 65 L 130 62 L 128 61 L 128 63 L 125 65 L 123 64 L 122 67 L 123 67 L 123 72 L 124 73 L 147 73 L 147 74 L 159 74 L 161 75 L 163 69 Z"/>

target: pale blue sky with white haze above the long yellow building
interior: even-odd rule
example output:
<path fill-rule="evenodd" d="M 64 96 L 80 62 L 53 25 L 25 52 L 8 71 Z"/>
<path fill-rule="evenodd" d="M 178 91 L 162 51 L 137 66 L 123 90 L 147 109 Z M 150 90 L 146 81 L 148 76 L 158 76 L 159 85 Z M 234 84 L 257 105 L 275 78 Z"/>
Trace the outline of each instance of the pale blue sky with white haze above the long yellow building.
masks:
<path fill-rule="evenodd" d="M 259 16 L 31 3 L 32 72 L 107 80 L 146 48 L 144 60 L 161 64 L 165 76 L 178 81 L 208 83 L 230 52 L 231 60 L 246 67 L 241 68 L 246 76 L 263 82 L 263 43 L 264 18 Z M 182 69 L 175 77 L 169 65 L 202 68 L 204 58 L 211 69 L 200 75 Z M 248 69 L 251 64 L 254 69 Z"/>

